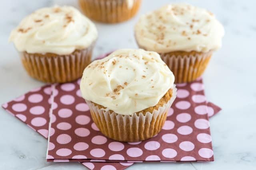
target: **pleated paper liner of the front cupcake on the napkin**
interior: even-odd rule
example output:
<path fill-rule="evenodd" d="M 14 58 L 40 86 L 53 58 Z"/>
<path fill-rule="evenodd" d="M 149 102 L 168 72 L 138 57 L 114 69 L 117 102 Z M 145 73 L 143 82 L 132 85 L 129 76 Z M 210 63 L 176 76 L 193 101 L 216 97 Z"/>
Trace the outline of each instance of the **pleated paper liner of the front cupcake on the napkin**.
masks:
<path fill-rule="evenodd" d="M 146 114 L 133 113 L 132 115 L 121 115 L 114 111 L 110 113 L 107 109 L 99 109 L 94 103 L 86 100 L 90 108 L 92 119 L 100 131 L 110 139 L 123 142 L 144 141 L 153 137 L 162 129 L 166 115 L 176 98 L 177 88 L 173 86 L 170 100 Z"/>

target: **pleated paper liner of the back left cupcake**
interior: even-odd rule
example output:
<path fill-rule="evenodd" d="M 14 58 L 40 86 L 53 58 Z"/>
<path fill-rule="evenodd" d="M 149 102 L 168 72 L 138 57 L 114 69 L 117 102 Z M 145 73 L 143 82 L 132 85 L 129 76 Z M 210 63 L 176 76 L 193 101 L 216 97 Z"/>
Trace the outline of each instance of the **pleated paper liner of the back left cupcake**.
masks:
<path fill-rule="evenodd" d="M 20 53 L 28 74 L 43 82 L 70 82 L 82 76 L 84 68 L 91 62 L 93 45 L 76 50 L 70 55 L 42 55 Z"/>

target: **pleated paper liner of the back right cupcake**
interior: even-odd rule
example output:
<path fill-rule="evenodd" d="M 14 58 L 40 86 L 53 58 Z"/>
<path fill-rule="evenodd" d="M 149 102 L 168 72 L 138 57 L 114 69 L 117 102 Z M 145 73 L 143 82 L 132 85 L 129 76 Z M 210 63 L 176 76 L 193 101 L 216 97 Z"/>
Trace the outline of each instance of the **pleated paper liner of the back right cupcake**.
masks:
<path fill-rule="evenodd" d="M 184 83 L 192 82 L 204 73 L 212 57 L 212 51 L 208 53 L 191 53 L 189 55 L 173 55 L 172 53 L 160 55 L 172 70 L 175 76 L 175 83 Z"/>

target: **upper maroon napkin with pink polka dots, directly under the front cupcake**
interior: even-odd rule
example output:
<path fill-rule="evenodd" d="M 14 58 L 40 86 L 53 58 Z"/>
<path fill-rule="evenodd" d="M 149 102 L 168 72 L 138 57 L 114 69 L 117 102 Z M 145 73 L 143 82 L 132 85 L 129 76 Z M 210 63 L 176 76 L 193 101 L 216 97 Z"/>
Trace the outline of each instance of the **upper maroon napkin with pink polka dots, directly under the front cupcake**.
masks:
<path fill-rule="evenodd" d="M 208 116 L 220 110 L 207 105 L 202 79 L 177 84 L 162 131 L 142 142 L 122 143 L 100 133 L 81 97 L 80 80 L 53 91 L 48 161 L 175 162 L 213 161 Z"/>

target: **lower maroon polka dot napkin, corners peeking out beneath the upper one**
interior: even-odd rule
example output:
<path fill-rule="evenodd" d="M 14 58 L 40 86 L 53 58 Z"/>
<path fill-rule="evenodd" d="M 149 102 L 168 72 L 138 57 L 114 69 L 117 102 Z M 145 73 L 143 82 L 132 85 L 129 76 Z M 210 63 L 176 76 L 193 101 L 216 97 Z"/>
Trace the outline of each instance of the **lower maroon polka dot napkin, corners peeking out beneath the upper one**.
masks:
<path fill-rule="evenodd" d="M 182 86 L 182 85 L 181 85 Z M 17 117 L 34 131 L 37 131 L 46 139 L 48 138 L 48 123 L 50 103 L 53 100 L 50 98 L 52 86 L 46 85 L 16 98 L 2 105 L 6 111 Z M 55 104 L 53 105 L 55 106 Z M 220 111 L 218 106 L 208 103 L 208 115 L 211 117 Z M 55 106 L 56 107 L 56 106 Z M 94 127 L 95 128 L 95 127 Z M 132 162 L 80 162 L 89 169 L 118 169 L 123 170 L 132 165 Z M 114 168 L 113 168 L 114 167 Z M 103 169 L 104 169 L 103 168 Z"/>

